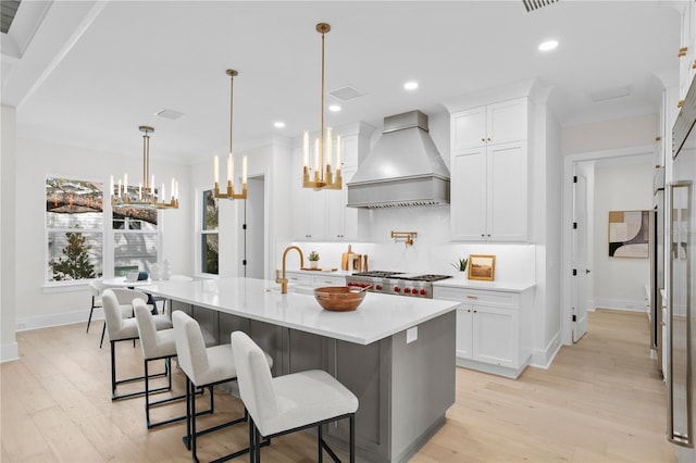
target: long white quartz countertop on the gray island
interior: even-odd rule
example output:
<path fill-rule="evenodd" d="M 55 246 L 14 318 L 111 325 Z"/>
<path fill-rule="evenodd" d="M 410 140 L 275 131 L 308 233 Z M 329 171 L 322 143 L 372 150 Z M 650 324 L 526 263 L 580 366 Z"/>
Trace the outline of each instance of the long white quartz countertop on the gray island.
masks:
<path fill-rule="evenodd" d="M 282 295 L 276 283 L 254 278 L 162 281 L 138 289 L 359 345 L 378 341 L 459 306 L 452 301 L 368 292 L 356 311 L 330 312 L 319 305 L 309 288 L 290 287 L 287 295 Z"/>

